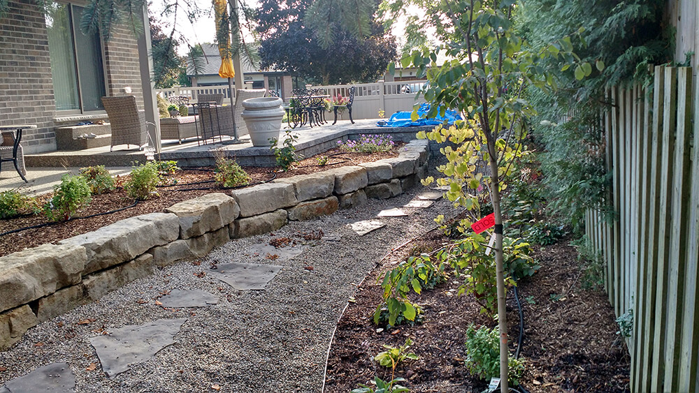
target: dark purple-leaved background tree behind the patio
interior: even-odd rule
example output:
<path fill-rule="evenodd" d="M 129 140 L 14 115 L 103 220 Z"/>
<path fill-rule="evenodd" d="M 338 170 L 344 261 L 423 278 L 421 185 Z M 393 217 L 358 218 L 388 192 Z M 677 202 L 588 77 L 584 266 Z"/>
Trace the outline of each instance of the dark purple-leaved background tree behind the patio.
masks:
<path fill-rule="evenodd" d="M 313 0 L 260 1 L 257 32 L 261 67 L 317 78 L 323 84 L 380 79 L 396 58 L 394 38 L 376 21 L 366 25 L 365 38 L 336 27 L 329 27 L 330 32 L 318 31 L 305 19 L 312 4 Z M 377 9 L 377 3 L 374 6 Z M 326 34 L 333 36 L 333 44 L 324 48 L 321 37 Z"/>

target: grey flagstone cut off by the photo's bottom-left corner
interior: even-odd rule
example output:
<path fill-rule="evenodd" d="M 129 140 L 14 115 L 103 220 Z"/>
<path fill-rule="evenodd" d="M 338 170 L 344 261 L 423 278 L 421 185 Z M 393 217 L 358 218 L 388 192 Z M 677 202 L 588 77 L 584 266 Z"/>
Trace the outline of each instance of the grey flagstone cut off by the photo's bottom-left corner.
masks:
<path fill-rule="evenodd" d="M 66 362 L 52 363 L 31 371 L 26 376 L 8 380 L 0 393 L 75 392 L 75 375 Z"/>

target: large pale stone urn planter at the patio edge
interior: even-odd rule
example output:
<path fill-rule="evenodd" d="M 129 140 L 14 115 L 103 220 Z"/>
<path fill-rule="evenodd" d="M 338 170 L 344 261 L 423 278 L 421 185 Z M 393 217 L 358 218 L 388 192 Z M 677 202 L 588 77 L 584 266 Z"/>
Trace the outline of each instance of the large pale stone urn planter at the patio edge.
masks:
<path fill-rule="evenodd" d="M 271 138 L 279 139 L 284 117 L 281 98 L 248 98 L 243 101 L 243 108 L 241 116 L 253 146 L 271 146 Z"/>

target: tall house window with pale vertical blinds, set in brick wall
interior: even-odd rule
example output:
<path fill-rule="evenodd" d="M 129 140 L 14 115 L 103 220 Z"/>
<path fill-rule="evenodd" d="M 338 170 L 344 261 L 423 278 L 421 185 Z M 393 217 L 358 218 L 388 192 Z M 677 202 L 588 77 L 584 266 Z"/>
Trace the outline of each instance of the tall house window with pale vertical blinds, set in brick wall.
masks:
<path fill-rule="evenodd" d="M 56 110 L 102 110 L 106 95 L 99 34 L 82 34 L 82 7 L 53 3 L 46 13 Z M 79 45 L 76 45 L 79 43 Z"/>

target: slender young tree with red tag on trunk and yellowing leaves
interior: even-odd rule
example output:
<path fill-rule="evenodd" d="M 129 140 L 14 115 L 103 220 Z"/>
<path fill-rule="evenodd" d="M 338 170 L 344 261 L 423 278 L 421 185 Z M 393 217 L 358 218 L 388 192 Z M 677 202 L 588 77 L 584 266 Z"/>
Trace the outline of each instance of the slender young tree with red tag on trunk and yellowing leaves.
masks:
<path fill-rule="evenodd" d="M 449 186 L 446 195 L 455 207 L 479 209 L 477 191 L 483 189 L 495 217 L 495 255 L 500 328 L 500 387 L 508 392 L 507 319 L 503 273 L 503 213 L 500 195 L 512 172 L 512 161 L 521 155 L 526 135 L 526 119 L 534 112 L 523 96 L 525 87 L 549 91 L 556 80 L 547 73 L 551 66 L 574 71 L 582 79 L 592 72 L 591 65 L 572 53 L 570 31 L 554 43 L 533 50 L 513 27 L 515 0 L 415 1 L 426 6 L 426 14 L 435 24 L 445 44 L 435 50 L 414 50 L 404 55 L 403 66 L 415 66 L 428 79 L 421 93 L 432 103 L 428 117 L 445 108 L 458 110 L 464 121 L 445 128 L 438 126 L 419 138 L 438 142 L 450 141 L 454 148 L 442 152 L 447 164 L 438 170 L 444 177 L 441 185 Z M 438 25 L 438 26 L 437 26 Z M 444 51 L 447 61 L 436 64 L 437 54 Z M 568 71 L 568 72 L 570 72 Z M 413 112 L 417 118 L 417 112 Z M 479 165 L 482 164 L 482 168 Z M 426 179 L 428 184 L 432 178 Z M 461 222 L 466 231 L 471 221 Z"/>

